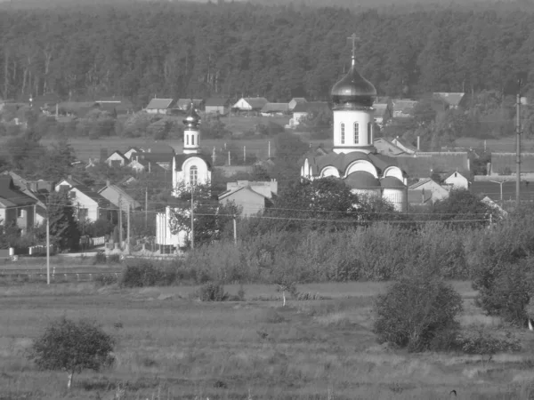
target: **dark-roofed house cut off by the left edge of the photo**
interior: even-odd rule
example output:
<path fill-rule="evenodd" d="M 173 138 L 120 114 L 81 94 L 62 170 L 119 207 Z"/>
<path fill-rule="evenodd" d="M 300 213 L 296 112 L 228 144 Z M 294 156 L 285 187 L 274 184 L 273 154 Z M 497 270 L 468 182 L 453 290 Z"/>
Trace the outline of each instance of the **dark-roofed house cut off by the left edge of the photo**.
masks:
<path fill-rule="evenodd" d="M 37 200 L 15 186 L 10 175 L 0 176 L 0 225 L 11 224 L 24 235 L 35 226 Z"/>

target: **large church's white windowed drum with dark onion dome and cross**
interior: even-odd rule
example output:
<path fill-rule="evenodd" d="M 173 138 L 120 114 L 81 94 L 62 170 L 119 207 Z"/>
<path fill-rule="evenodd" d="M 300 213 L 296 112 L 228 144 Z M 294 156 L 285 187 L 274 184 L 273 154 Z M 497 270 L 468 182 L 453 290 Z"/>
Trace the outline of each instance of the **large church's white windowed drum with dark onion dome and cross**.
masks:
<path fill-rule="evenodd" d="M 375 153 L 373 102 L 376 88 L 356 70 L 355 42 L 358 37 L 352 35 L 349 39 L 352 40 L 351 68 L 330 92 L 334 103 L 334 152 Z"/>

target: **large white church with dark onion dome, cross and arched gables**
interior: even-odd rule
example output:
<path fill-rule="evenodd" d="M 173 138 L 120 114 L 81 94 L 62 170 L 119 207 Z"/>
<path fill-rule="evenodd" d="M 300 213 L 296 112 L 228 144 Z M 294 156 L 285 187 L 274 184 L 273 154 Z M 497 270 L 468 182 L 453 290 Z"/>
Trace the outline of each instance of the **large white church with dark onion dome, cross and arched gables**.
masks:
<path fill-rule="evenodd" d="M 382 196 L 397 211 L 406 211 L 406 173 L 395 158 L 378 154 L 373 145 L 376 88 L 360 75 L 355 64 L 352 38 L 351 68 L 330 93 L 334 148 L 326 155 L 305 158 L 301 177 L 309 180 L 328 176 L 341 178 L 353 193 Z"/>

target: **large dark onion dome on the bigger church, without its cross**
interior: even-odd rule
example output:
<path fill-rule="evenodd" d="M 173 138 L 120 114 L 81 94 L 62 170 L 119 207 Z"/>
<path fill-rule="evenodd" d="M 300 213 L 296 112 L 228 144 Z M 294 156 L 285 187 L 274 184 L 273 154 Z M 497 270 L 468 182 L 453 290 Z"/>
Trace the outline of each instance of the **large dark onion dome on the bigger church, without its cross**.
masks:
<path fill-rule="evenodd" d="M 335 104 L 352 103 L 356 106 L 372 107 L 376 98 L 376 88 L 354 67 L 341 78 L 330 92 Z"/>

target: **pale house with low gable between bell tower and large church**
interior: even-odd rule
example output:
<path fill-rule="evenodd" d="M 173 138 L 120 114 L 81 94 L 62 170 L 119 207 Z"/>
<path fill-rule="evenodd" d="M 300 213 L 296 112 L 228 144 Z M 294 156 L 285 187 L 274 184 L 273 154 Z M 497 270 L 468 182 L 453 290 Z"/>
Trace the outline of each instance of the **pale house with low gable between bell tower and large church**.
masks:
<path fill-rule="evenodd" d="M 250 217 L 269 207 L 272 204 L 272 197 L 277 194 L 276 180 L 267 182 L 238 180 L 226 184 L 226 191 L 219 195 L 219 203 L 233 202 L 241 208 L 243 217 Z"/>

